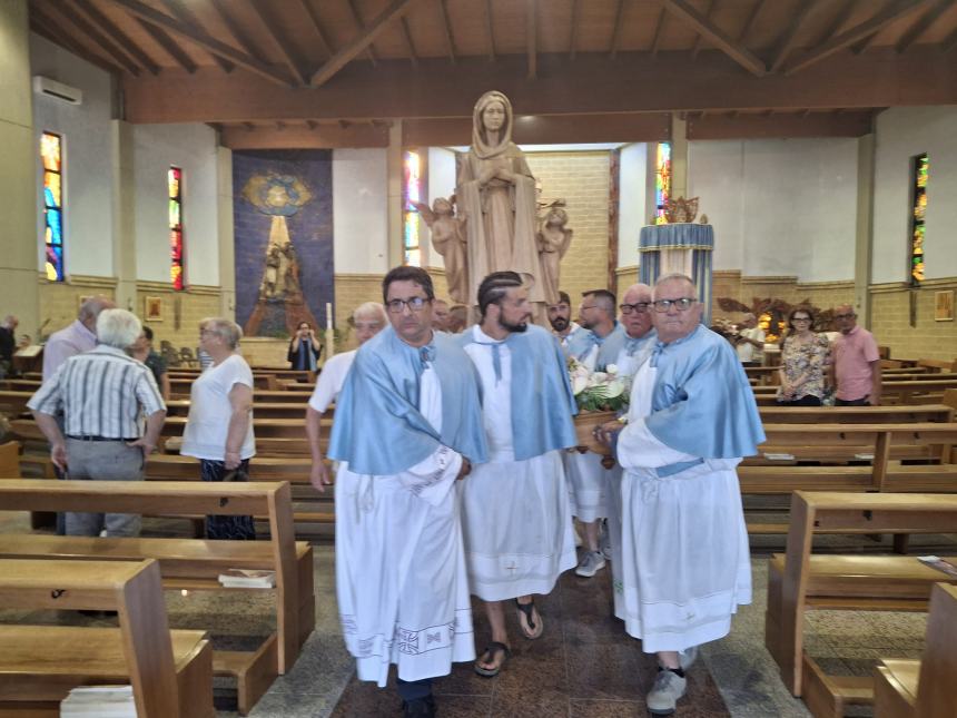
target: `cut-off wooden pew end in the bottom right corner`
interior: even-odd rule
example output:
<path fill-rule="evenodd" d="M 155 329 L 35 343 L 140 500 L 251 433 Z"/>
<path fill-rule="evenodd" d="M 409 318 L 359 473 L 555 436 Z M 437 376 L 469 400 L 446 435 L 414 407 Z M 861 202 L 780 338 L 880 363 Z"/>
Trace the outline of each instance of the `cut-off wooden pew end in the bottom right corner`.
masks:
<path fill-rule="evenodd" d="M 885 659 L 875 669 L 876 718 L 929 718 L 957 714 L 957 588 L 930 590 L 927 638 L 920 660 Z"/>

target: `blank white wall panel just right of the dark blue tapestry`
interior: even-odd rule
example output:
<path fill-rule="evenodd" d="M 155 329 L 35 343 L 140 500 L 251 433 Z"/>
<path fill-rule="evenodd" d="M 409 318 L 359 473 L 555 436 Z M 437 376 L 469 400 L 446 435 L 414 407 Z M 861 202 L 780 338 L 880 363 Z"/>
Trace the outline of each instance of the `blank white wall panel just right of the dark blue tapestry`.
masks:
<path fill-rule="evenodd" d="M 387 193 L 385 149 L 333 150 L 336 274 L 388 272 Z"/>

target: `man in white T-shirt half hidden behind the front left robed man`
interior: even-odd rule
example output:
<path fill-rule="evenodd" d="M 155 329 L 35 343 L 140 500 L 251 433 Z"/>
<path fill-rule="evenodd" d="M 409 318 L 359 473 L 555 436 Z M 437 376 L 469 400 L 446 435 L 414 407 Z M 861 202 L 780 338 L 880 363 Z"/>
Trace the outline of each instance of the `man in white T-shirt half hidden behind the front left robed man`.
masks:
<path fill-rule="evenodd" d="M 385 314 L 385 307 L 378 302 L 366 302 L 353 312 L 352 325 L 355 327 L 359 346 L 378 334 L 386 324 L 388 324 L 388 317 Z M 343 390 L 343 384 L 345 384 L 346 375 L 352 368 L 357 351 L 343 352 L 326 360 L 306 409 L 306 434 L 309 437 L 309 450 L 313 454 L 313 470 L 309 473 L 309 481 L 319 492 L 324 492 L 325 486 L 333 482 L 329 468 L 326 466 L 323 459 L 322 446 L 319 446 L 323 414 L 329 404 L 336 401 L 336 396 Z"/>

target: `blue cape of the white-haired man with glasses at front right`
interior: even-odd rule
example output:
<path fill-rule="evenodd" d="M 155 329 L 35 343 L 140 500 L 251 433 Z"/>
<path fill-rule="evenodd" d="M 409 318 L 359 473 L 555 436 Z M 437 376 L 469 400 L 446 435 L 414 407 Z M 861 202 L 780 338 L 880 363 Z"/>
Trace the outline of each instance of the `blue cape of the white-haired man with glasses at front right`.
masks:
<path fill-rule="evenodd" d="M 764 431 L 754 392 L 726 340 L 699 325 L 650 350 L 658 374 L 645 424 L 655 439 L 702 459 L 758 453 Z"/>

